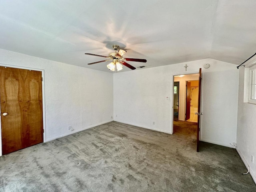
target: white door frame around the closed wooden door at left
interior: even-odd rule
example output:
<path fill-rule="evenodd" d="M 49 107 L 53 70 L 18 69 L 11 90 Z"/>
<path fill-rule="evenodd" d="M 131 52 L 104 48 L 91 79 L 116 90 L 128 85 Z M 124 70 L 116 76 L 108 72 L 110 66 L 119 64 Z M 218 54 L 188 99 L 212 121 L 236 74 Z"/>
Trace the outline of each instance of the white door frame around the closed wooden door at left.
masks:
<path fill-rule="evenodd" d="M 37 68 L 29 68 L 29 67 L 22 67 L 22 66 L 14 66 L 14 65 L 6 65 L 0 63 L 0 66 L 3 67 L 10 67 L 10 68 L 16 68 L 16 69 L 25 69 L 25 70 L 33 70 L 33 71 L 40 71 L 42 72 L 42 108 L 43 108 L 43 129 L 44 129 L 44 134 L 43 134 L 43 142 L 46 142 L 46 122 L 45 122 L 45 96 L 44 96 L 44 70 L 43 69 L 37 69 Z M 1 109 L 0 109 L 1 113 Z M 0 118 L 1 122 L 1 118 Z M 2 126 L 0 123 L 0 156 L 2 156 Z"/>

